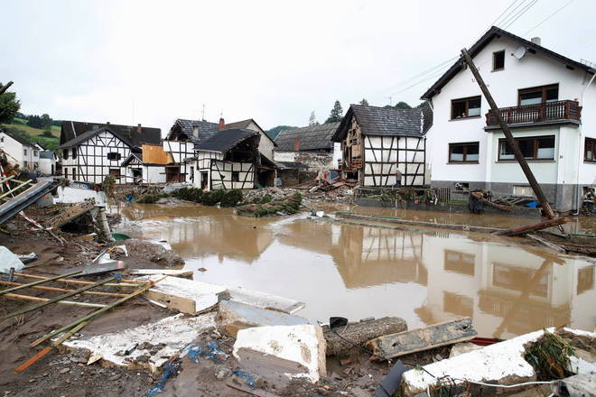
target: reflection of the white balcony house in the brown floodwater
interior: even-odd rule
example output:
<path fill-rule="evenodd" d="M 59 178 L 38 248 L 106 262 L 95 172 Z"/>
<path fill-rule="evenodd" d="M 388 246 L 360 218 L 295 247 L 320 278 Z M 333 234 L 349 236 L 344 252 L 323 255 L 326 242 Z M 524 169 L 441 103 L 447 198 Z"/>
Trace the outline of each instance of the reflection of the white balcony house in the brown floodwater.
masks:
<path fill-rule="evenodd" d="M 417 309 L 424 322 L 473 316 L 480 335 L 495 337 L 563 324 L 593 327 L 590 263 L 463 238 L 428 237 L 424 257 L 428 299 Z"/>

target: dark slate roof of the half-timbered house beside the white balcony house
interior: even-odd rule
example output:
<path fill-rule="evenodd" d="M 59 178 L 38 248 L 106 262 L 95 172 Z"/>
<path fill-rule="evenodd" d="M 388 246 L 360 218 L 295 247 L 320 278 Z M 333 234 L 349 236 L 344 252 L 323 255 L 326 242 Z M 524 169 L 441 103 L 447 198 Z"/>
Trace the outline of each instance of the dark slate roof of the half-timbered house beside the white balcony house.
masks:
<path fill-rule="evenodd" d="M 340 142 L 348 134 L 352 115 L 356 117 L 362 134 L 383 136 L 424 136 L 433 125 L 433 111 L 429 107 L 396 109 L 395 107 L 350 105 L 340 126 L 331 137 Z"/>

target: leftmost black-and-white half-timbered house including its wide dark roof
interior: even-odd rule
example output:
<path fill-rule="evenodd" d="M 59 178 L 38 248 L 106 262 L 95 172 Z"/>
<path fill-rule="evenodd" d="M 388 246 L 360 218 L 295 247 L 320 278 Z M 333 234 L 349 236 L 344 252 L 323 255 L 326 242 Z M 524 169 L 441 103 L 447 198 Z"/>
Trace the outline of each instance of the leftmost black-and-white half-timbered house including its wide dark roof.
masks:
<path fill-rule="evenodd" d="M 101 183 L 112 175 L 116 183 L 132 183 L 122 163 L 143 143 L 160 144 L 159 128 L 63 121 L 62 173 L 68 180 Z"/>

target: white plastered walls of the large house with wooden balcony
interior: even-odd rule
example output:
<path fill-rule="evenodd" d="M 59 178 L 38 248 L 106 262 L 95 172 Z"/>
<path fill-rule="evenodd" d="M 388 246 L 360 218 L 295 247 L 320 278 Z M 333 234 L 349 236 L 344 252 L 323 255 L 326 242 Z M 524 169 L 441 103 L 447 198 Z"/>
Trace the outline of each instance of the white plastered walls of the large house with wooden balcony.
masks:
<path fill-rule="evenodd" d="M 480 69 L 480 74 L 499 107 L 517 106 L 518 89 L 557 83 L 560 100 L 582 98 L 582 91 L 586 88 L 590 75 L 578 69 L 566 69 L 561 62 L 529 51 L 526 51 L 521 60 L 517 60 L 511 54 L 518 47 L 517 42 L 498 38 L 474 57 L 474 63 Z M 505 50 L 506 53 L 505 69 L 492 71 L 492 54 L 501 50 Z M 453 188 L 455 182 L 469 182 L 470 189 L 489 188 L 499 193 L 511 194 L 515 184 L 527 181 L 517 163 L 497 161 L 498 137 L 502 137 L 502 133 L 484 131 L 485 115 L 489 110 L 486 99 L 481 97 L 480 116 L 451 120 L 452 99 L 480 95 L 480 87 L 470 69 L 463 69 L 433 97 L 433 126 L 427 134 L 427 160 L 430 162 L 432 184 L 435 187 Z M 579 134 L 596 134 L 596 112 L 593 111 L 596 108 L 595 102 L 596 85 L 592 83 L 580 103 L 583 106 L 581 127 L 531 127 L 512 130 L 514 137 L 532 134 L 556 135 L 554 162 L 529 162 L 530 169 L 535 172 L 536 179 L 545 188 L 545 193 L 549 201 L 555 204 L 555 208 L 573 208 L 574 198 L 571 192 L 577 190 L 578 169 L 580 184 L 594 184 L 593 170 L 596 167 L 582 164 L 580 153 L 582 158 L 583 150 L 579 145 L 583 143 L 580 142 Z M 454 164 L 448 161 L 449 143 L 470 142 L 480 143 L 478 163 Z"/>

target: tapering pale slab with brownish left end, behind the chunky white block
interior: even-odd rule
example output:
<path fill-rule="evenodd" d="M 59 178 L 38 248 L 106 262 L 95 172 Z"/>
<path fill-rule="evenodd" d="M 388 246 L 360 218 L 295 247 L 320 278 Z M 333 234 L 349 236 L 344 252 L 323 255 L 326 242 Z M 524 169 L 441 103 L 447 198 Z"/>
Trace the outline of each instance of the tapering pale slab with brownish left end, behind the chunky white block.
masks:
<path fill-rule="evenodd" d="M 307 319 L 274 310 L 259 309 L 233 300 L 219 303 L 218 325 L 230 337 L 238 330 L 262 326 L 294 326 L 308 324 Z"/>

